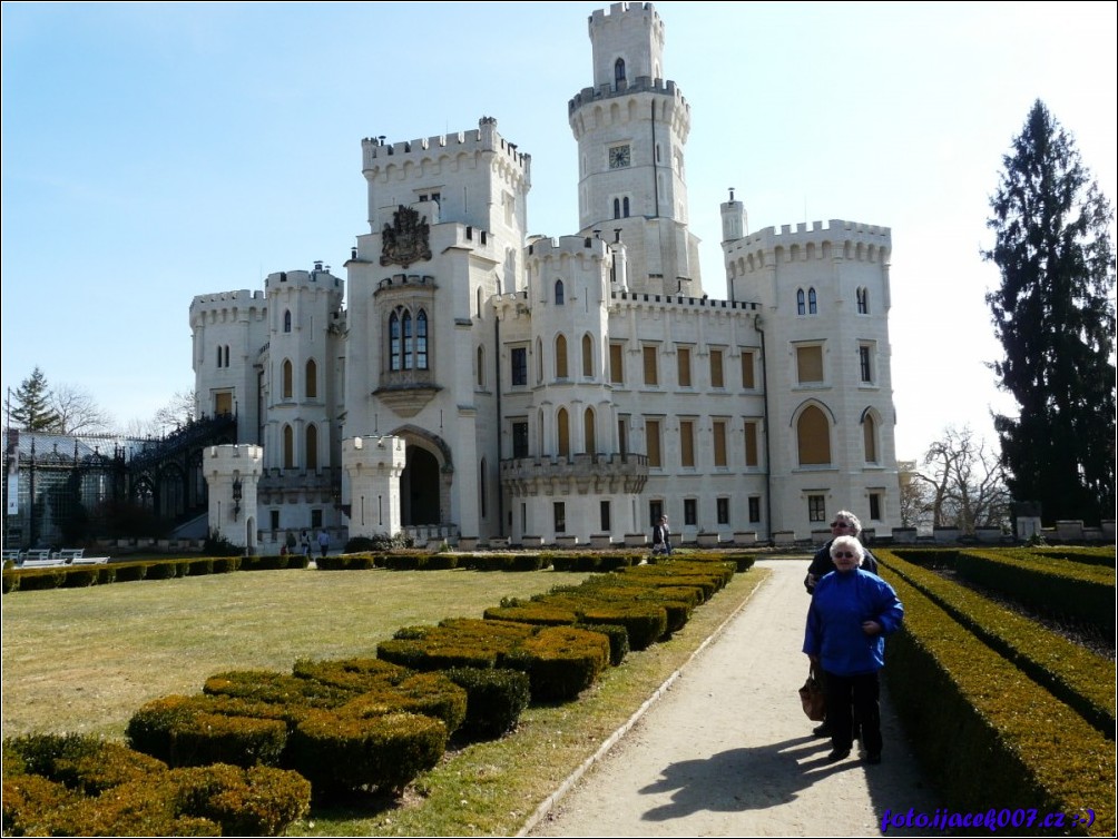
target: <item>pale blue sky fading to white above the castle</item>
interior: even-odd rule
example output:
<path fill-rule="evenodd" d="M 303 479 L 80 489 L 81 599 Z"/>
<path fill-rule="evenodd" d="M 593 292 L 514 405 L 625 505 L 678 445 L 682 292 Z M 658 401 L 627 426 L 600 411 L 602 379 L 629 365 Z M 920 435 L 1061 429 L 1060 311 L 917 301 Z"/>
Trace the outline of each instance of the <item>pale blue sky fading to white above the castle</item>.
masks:
<path fill-rule="evenodd" d="M 35 365 L 124 427 L 190 389 L 196 294 L 334 267 L 368 231 L 360 141 L 494 116 L 532 155 L 532 232 L 576 231 L 567 101 L 603 3 L 2 6 L 2 384 Z M 893 231 L 900 458 L 1012 410 L 979 250 L 1002 155 L 1036 98 L 1118 198 L 1116 3 L 655 3 L 692 107 L 703 276 L 719 203 L 751 230 Z"/>

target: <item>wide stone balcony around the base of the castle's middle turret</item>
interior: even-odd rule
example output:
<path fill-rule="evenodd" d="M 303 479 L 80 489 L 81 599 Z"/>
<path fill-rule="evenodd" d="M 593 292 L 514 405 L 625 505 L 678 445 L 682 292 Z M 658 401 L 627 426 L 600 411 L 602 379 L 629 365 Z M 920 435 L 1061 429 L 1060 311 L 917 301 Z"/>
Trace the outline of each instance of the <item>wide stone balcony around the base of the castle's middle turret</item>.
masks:
<path fill-rule="evenodd" d="M 501 483 L 514 495 L 636 494 L 647 479 L 646 455 L 518 457 L 501 461 Z"/>

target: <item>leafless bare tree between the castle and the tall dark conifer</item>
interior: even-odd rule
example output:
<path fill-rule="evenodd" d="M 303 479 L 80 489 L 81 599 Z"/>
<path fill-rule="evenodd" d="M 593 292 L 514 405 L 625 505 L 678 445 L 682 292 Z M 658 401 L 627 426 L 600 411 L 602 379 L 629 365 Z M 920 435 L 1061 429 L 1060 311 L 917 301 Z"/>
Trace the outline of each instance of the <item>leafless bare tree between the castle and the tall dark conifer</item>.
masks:
<path fill-rule="evenodd" d="M 973 534 L 975 527 L 1008 524 L 1005 473 L 969 426 L 946 428 L 942 438 L 928 447 L 923 469 L 915 477 L 930 488 L 935 525 Z"/>

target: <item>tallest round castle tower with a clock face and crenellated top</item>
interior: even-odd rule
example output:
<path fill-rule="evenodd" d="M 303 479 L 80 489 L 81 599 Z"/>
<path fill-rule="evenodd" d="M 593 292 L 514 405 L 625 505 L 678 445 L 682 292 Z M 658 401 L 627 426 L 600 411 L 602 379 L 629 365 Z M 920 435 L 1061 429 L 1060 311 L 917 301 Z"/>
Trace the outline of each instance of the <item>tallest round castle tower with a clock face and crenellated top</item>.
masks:
<path fill-rule="evenodd" d="M 691 108 L 663 78 L 664 23 L 652 3 L 623 2 L 595 11 L 589 31 L 594 86 L 568 103 L 580 231 L 619 237 L 629 290 L 702 296 L 698 239 L 688 229 Z"/>

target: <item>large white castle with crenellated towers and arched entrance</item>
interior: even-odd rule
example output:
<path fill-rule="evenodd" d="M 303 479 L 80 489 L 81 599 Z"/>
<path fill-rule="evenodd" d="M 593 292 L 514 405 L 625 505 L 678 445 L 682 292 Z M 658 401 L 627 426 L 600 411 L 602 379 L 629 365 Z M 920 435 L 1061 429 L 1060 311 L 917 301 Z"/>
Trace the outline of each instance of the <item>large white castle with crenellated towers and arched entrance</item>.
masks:
<path fill-rule="evenodd" d="M 345 280 L 316 263 L 193 299 L 198 409 L 236 413 L 263 458 L 236 475 L 253 505 L 211 499 L 211 527 L 272 550 L 312 527 L 619 543 L 662 513 L 683 541 L 806 538 L 842 508 L 899 524 L 889 229 L 750 233 L 731 191 L 729 299 L 709 298 L 664 25 L 614 3 L 589 34 L 577 235 L 528 235 L 531 156 L 483 117 L 362 141 Z M 211 493 L 238 459 L 214 463 Z"/>

